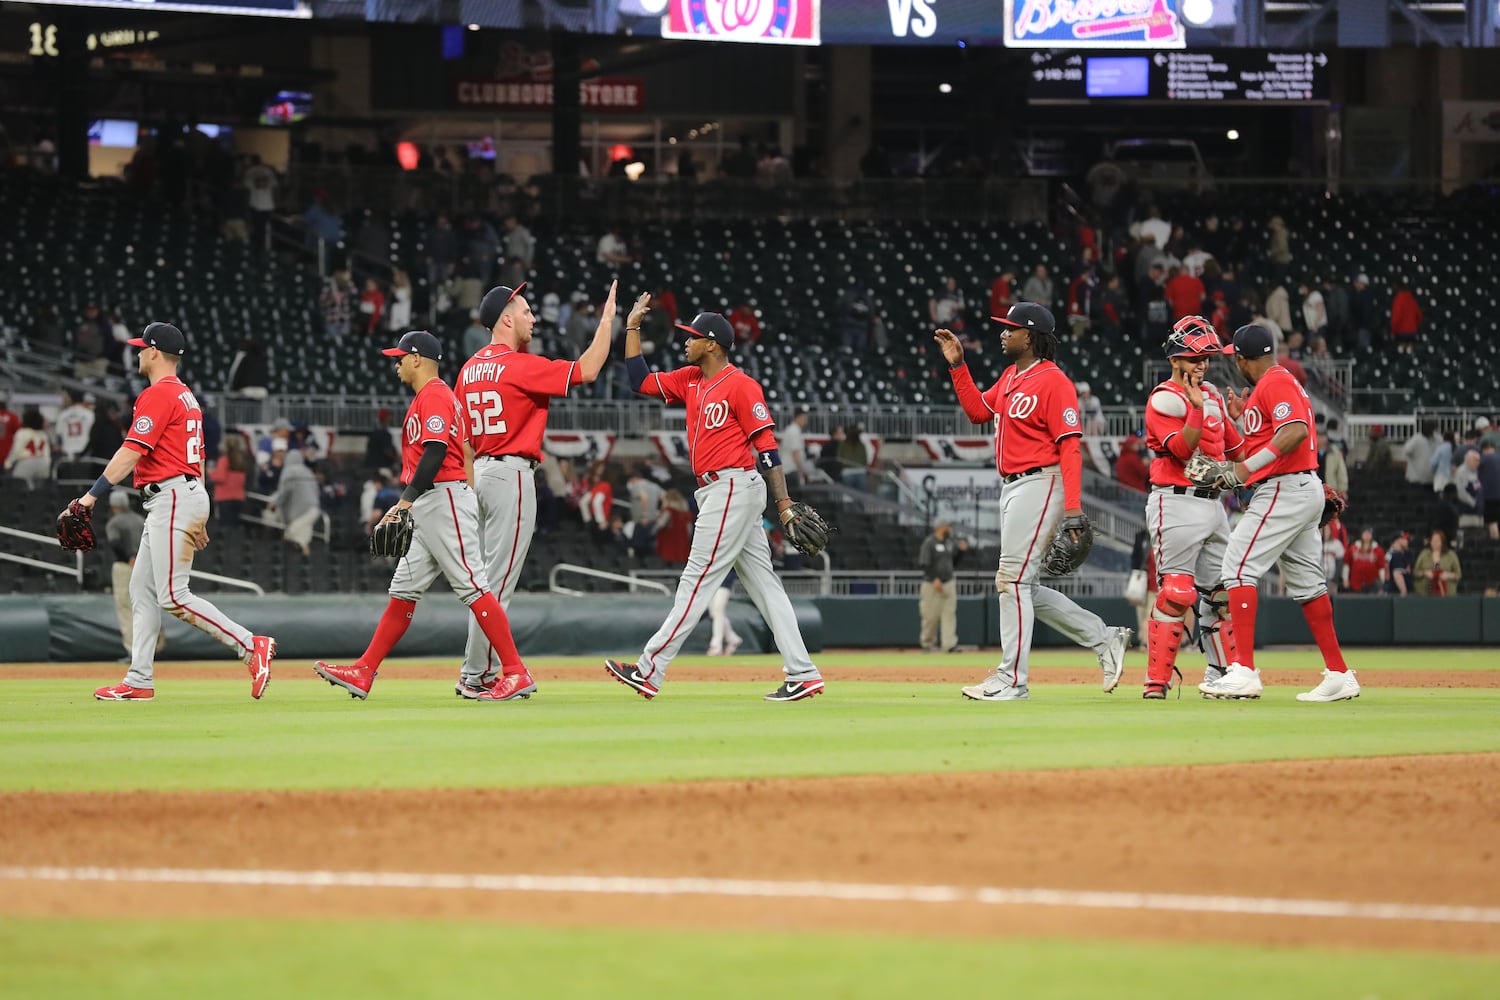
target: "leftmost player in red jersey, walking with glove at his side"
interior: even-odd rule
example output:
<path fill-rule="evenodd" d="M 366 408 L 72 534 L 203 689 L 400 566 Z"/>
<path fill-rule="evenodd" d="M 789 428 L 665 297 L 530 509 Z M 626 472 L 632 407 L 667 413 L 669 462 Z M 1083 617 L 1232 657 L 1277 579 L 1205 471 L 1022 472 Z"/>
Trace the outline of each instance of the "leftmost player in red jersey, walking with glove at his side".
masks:
<path fill-rule="evenodd" d="M 234 649 L 250 670 L 250 697 L 272 682 L 276 640 L 254 636 L 208 601 L 188 589 L 192 555 L 208 544 L 208 493 L 202 486 L 202 408 L 177 378 L 188 339 L 166 322 L 153 322 L 129 342 L 140 348 L 136 366 L 150 385 L 135 400 L 124 444 L 114 453 L 84 507 L 110 493 L 135 472 L 146 498 L 146 529 L 130 571 L 130 669 L 123 684 L 99 688 L 100 702 L 148 702 L 156 697 L 152 676 L 162 609 Z"/>

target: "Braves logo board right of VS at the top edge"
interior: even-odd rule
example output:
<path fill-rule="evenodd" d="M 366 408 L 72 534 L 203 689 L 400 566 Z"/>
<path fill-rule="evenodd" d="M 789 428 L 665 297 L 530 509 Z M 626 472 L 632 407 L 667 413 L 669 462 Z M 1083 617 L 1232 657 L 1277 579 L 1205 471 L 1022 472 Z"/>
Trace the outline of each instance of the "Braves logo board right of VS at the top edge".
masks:
<path fill-rule="evenodd" d="M 1032 48 L 1184 48 L 1180 0 L 1005 0 L 1005 43 Z"/>

